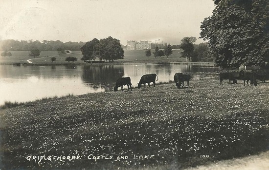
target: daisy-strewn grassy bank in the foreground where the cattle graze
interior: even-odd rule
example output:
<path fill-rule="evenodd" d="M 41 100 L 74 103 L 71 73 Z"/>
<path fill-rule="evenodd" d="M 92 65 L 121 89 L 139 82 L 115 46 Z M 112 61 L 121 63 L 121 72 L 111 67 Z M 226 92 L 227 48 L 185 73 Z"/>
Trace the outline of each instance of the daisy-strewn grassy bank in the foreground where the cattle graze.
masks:
<path fill-rule="evenodd" d="M 32 102 L 6 110 L 0 169 L 176 170 L 255 154 L 269 147 L 268 96 L 269 83 L 219 85 L 216 75 L 199 74 L 185 89 L 169 83 Z M 33 160 L 42 155 L 80 159 Z"/>

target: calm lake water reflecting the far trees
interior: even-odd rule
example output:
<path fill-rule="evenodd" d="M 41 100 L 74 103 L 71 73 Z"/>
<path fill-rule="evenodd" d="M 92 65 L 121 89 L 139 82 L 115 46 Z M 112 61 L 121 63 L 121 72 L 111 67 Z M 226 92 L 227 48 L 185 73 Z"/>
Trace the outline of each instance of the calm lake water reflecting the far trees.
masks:
<path fill-rule="evenodd" d="M 0 65 L 0 105 L 4 101 L 33 101 L 43 97 L 112 91 L 117 78 L 130 76 L 137 86 L 140 77 L 156 73 L 157 82 L 173 80 L 176 72 L 214 72 L 216 67 L 179 64 L 124 64 L 104 66 Z M 120 88 L 119 88 L 120 90 Z"/>

